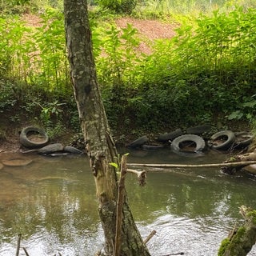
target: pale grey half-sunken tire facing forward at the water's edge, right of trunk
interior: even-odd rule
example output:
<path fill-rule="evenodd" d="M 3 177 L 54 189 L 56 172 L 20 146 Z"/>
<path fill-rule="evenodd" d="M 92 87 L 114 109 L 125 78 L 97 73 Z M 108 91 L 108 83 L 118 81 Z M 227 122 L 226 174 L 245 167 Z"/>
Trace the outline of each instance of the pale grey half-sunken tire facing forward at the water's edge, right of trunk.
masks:
<path fill-rule="evenodd" d="M 177 152 L 202 152 L 206 149 L 206 142 L 203 138 L 195 134 L 184 134 L 174 138 L 171 149 Z"/>

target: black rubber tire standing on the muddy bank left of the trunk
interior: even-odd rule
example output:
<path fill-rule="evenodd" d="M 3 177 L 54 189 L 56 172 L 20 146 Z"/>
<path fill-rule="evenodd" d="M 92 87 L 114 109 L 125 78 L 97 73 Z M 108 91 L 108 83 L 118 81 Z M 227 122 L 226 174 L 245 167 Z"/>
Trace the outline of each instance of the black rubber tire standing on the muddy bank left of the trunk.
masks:
<path fill-rule="evenodd" d="M 33 142 L 28 138 L 30 133 L 40 134 L 43 139 L 41 142 Z M 22 129 L 21 134 L 19 135 L 19 141 L 22 146 L 25 146 L 29 149 L 40 148 L 42 146 L 46 146 L 49 142 L 49 137 L 46 132 L 38 127 L 28 126 Z"/>

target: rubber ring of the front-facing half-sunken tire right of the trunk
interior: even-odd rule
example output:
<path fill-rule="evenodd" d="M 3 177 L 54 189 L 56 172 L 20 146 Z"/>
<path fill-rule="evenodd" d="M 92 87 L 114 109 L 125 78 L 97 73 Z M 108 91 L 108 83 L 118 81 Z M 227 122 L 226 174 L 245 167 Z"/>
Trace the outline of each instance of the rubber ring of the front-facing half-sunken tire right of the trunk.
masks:
<path fill-rule="evenodd" d="M 193 151 L 194 153 L 199 153 L 206 149 L 206 142 L 204 141 L 204 139 L 195 134 L 184 134 L 182 136 L 174 138 L 174 141 L 171 143 L 171 149 L 177 152 L 186 152 L 186 150 L 182 150 L 180 147 L 180 144 L 182 142 L 194 142 L 196 145 Z"/>

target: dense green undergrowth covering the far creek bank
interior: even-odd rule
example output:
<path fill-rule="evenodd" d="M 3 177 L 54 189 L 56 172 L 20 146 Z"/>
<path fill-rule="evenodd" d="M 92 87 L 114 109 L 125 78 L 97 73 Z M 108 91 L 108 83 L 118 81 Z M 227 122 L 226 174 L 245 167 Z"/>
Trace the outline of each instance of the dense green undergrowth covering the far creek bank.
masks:
<path fill-rule="evenodd" d="M 14 123 L 29 118 L 53 136 L 78 131 L 62 5 L 36 8 L 32 2 L 1 6 L 0 116 Z M 196 15 L 176 10 L 176 16 L 170 16 L 172 6 L 137 6 L 130 15 L 180 24 L 174 38 L 154 42 L 151 54 L 138 51 L 145 39 L 130 24 L 120 30 L 116 15 L 90 11 L 98 82 L 119 138 L 229 120 L 255 127 L 256 10 L 250 2 L 229 3 Z M 40 15 L 40 26 L 22 21 L 32 11 Z"/>

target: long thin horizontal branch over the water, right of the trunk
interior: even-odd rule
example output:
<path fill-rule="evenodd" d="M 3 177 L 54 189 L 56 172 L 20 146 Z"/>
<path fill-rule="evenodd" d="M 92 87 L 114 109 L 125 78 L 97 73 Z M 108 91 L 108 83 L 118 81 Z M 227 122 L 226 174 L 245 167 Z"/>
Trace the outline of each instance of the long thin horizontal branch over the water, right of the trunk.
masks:
<path fill-rule="evenodd" d="M 203 168 L 203 167 L 225 167 L 225 166 L 248 166 L 256 164 L 256 161 L 244 162 L 221 162 L 221 163 L 208 163 L 200 165 L 180 165 L 180 164 L 160 164 L 160 163 L 127 163 L 127 166 L 135 167 L 154 167 L 154 168 Z M 160 170 L 159 170 L 160 171 Z"/>

